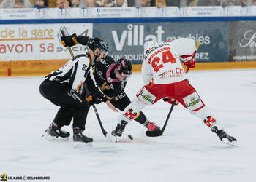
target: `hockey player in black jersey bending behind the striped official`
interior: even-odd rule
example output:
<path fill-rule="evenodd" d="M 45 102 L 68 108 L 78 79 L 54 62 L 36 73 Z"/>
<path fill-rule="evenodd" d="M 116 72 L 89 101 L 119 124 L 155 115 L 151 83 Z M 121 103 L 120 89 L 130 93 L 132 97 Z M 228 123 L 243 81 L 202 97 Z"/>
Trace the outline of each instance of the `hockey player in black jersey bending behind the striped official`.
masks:
<path fill-rule="evenodd" d="M 61 39 L 62 44 L 64 44 L 65 47 L 72 47 L 78 43 L 87 45 L 91 41 L 90 37 L 76 36 L 75 34 L 72 34 L 72 36 L 61 37 Z M 124 92 L 124 88 L 127 84 L 127 76 L 132 74 L 132 64 L 123 58 L 119 59 L 116 63 L 113 58 L 106 56 L 105 58 L 95 62 L 95 65 L 93 66 L 93 73 L 97 86 L 106 95 L 113 106 L 118 108 L 120 111 L 124 111 L 124 108 L 131 103 L 127 94 Z M 135 121 L 146 126 L 148 130 L 155 132 L 160 130 L 157 124 L 148 121 L 143 112 L 138 114 Z M 120 126 L 120 130 L 114 130 L 113 135 L 121 136 L 121 128 L 122 127 Z"/>

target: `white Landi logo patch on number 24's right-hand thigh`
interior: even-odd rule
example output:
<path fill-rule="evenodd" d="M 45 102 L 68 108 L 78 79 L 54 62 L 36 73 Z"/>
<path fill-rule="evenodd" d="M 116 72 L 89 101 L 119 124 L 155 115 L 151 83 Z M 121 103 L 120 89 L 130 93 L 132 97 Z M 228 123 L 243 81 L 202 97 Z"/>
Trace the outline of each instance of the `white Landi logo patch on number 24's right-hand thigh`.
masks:
<path fill-rule="evenodd" d="M 189 110 L 195 110 L 203 106 L 203 103 L 197 95 L 197 92 L 188 95 L 186 98 L 183 98 L 183 100 Z"/>

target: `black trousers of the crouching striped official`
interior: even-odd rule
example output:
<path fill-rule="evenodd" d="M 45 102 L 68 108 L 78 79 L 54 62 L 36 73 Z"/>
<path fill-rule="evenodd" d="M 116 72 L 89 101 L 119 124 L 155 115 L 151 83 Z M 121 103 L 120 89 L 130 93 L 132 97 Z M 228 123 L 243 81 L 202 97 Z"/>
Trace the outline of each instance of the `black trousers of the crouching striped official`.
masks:
<path fill-rule="evenodd" d="M 73 128 L 79 127 L 80 130 L 85 130 L 90 105 L 75 90 L 72 90 L 68 84 L 48 80 L 42 82 L 39 90 L 44 98 L 61 107 L 53 122 L 59 127 L 68 126 L 74 117 Z"/>

